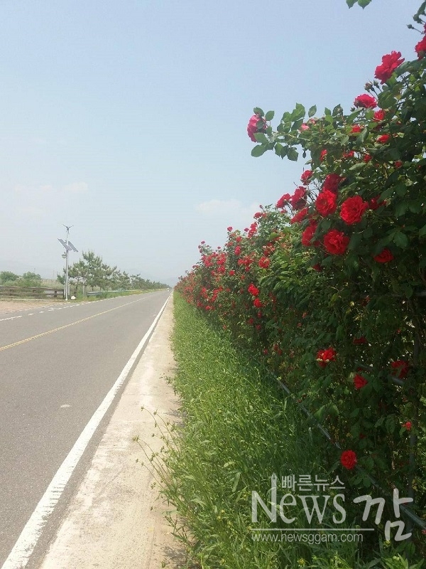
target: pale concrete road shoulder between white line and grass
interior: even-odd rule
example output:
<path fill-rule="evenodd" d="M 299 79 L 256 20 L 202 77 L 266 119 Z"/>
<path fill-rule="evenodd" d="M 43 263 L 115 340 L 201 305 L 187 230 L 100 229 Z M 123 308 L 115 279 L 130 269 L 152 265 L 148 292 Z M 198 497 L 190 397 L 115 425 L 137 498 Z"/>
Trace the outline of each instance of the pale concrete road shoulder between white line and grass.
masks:
<path fill-rule="evenodd" d="M 178 419 L 178 398 L 165 381 L 175 369 L 172 326 L 170 298 L 40 569 L 172 569 L 182 563 L 153 474 L 133 442 L 138 436 L 154 451 L 162 445 L 152 436 L 153 417 L 141 407 Z"/>

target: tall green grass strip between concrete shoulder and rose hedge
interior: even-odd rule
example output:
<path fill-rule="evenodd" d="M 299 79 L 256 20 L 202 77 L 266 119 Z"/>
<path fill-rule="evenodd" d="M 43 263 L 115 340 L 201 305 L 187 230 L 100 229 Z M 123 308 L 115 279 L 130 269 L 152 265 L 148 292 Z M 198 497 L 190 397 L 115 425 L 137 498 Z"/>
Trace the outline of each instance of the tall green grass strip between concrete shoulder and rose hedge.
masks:
<path fill-rule="evenodd" d="M 187 547 L 191 567 L 408 568 L 386 552 L 381 561 L 370 552 L 373 564 L 367 565 L 359 560 L 361 549 L 356 543 L 256 541 L 256 528 L 308 527 L 300 501 L 283 508 L 288 518 L 295 517 L 290 525 L 279 516 L 276 523 L 271 522 L 260 506 L 258 521 L 253 523 L 252 492 L 271 506 L 274 473 L 279 481 L 277 501 L 288 492 L 280 487 L 285 475 L 334 479 L 336 473 L 327 467 L 326 443 L 276 382 L 176 295 L 173 346 L 178 361 L 173 385 L 182 402 L 182 422 L 172 426 L 157 419 L 165 444 L 163 452 L 148 458 L 175 509 L 170 523 Z M 339 477 L 344 480 L 340 471 Z M 338 512 L 327 509 L 324 527 L 354 527 L 351 519 L 337 526 L 332 514 Z M 318 522 L 314 519 L 311 526 L 318 527 Z"/>

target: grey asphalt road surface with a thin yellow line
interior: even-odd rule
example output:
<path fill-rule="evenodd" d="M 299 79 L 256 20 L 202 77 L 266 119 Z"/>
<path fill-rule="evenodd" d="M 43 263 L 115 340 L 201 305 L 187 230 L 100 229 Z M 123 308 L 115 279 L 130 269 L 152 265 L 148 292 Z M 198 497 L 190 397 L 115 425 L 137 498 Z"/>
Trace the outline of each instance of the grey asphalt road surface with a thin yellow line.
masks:
<path fill-rule="evenodd" d="M 168 294 L 0 315 L 0 567 Z M 96 437 L 62 502 L 95 445 Z M 58 506 L 44 543 L 65 508 Z"/>

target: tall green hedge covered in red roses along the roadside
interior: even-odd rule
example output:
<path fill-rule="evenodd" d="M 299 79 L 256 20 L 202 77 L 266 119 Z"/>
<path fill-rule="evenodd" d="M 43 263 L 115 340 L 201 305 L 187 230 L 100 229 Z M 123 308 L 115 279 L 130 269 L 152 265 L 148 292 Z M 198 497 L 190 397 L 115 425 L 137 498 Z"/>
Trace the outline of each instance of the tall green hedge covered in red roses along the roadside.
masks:
<path fill-rule="evenodd" d="M 202 243 L 200 262 L 178 285 L 266 358 L 339 443 L 354 484 L 369 486 L 367 472 L 388 489 L 414 489 L 422 516 L 425 33 L 415 60 L 383 55 L 380 83 L 354 97 L 349 115 L 337 105 L 306 117 L 297 104 L 274 130 L 274 113 L 254 109 L 252 155 L 309 154 L 308 169 L 250 228 L 228 228 L 223 249 Z"/>

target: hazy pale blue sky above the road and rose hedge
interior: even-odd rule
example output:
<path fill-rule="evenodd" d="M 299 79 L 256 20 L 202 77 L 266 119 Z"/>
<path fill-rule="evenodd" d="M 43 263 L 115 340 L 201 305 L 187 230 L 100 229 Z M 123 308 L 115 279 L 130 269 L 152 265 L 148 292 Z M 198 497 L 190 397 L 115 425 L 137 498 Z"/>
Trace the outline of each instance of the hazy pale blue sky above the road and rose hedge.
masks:
<path fill-rule="evenodd" d="M 302 159 L 251 157 L 253 107 L 349 111 L 383 54 L 415 58 L 418 6 L 1 0 L 0 270 L 61 272 L 66 224 L 78 250 L 173 284 L 299 181 Z"/>

